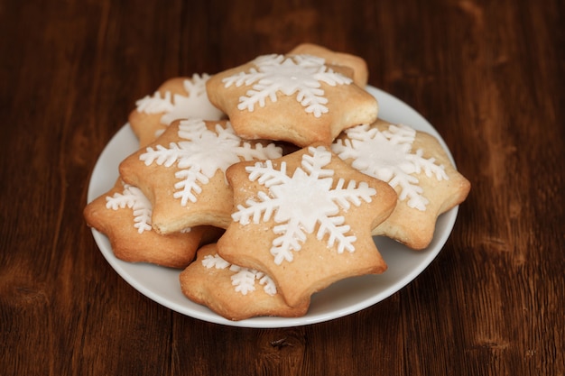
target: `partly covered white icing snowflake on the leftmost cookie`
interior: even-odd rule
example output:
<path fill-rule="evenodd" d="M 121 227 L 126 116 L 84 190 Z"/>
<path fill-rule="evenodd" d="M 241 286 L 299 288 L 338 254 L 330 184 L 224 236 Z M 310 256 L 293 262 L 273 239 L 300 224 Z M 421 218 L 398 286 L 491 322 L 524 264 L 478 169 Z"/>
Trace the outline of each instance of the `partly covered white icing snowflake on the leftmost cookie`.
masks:
<path fill-rule="evenodd" d="M 106 197 L 106 207 L 113 210 L 129 207 L 134 211 L 134 227 L 137 232 L 143 234 L 144 231 L 151 231 L 153 210 L 151 202 L 144 196 L 141 189 L 125 184 L 122 193 L 116 192 L 114 196 Z"/>

